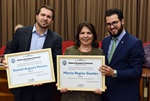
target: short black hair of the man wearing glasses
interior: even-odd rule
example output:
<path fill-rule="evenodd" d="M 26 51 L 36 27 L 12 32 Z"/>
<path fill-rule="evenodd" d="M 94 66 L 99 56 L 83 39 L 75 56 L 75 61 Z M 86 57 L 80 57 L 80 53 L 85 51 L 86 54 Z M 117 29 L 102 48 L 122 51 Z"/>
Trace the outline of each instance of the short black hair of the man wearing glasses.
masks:
<path fill-rule="evenodd" d="M 120 9 L 114 8 L 114 9 L 109 9 L 109 10 L 106 11 L 105 18 L 104 18 L 105 22 L 106 22 L 106 17 L 114 15 L 114 14 L 118 15 L 118 18 L 119 18 L 120 21 L 123 19 L 122 11 Z"/>

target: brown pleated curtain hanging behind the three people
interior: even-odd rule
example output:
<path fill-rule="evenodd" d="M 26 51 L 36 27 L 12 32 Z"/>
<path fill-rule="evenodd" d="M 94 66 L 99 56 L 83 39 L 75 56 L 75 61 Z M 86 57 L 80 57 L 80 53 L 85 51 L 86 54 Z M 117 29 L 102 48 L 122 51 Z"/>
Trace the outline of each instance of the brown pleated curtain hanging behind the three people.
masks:
<path fill-rule="evenodd" d="M 123 11 L 129 33 L 143 42 L 150 41 L 149 0 L 0 0 L 0 5 L 0 46 L 12 39 L 15 25 L 34 25 L 36 12 L 42 5 L 54 9 L 54 22 L 49 28 L 64 41 L 75 41 L 77 26 L 82 21 L 93 23 L 101 41 L 107 34 L 104 15 L 110 8 Z"/>

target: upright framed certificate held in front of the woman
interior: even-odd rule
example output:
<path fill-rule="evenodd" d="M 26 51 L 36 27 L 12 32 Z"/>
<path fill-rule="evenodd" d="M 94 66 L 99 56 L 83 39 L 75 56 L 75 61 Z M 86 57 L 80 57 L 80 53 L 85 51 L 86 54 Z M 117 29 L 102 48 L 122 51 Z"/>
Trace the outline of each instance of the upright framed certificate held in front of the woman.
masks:
<path fill-rule="evenodd" d="M 98 70 L 102 64 L 105 64 L 104 56 L 58 55 L 58 90 L 105 91 L 105 76 Z"/>

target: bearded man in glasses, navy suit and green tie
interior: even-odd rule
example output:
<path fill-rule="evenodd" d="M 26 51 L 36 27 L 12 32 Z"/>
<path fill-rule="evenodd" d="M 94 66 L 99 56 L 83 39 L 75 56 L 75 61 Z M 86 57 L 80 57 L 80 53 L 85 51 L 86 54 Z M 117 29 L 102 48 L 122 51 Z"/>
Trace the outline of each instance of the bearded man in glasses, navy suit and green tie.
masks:
<path fill-rule="evenodd" d="M 124 29 L 121 10 L 106 11 L 105 23 L 110 36 L 102 42 L 106 65 L 100 70 L 106 76 L 107 86 L 103 101 L 139 101 L 139 79 L 144 62 L 142 42 Z"/>

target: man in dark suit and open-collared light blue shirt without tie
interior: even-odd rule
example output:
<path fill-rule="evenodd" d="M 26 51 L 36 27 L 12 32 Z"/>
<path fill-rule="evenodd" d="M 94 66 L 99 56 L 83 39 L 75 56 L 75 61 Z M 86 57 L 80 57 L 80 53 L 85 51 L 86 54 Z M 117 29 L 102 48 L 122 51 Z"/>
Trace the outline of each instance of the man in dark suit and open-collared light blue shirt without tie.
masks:
<path fill-rule="evenodd" d="M 5 53 L 51 48 L 56 75 L 56 56 L 61 54 L 62 38 L 48 29 L 53 20 L 53 9 L 47 5 L 42 6 L 36 14 L 35 25 L 16 30 L 11 46 Z M 7 67 L 5 61 L 4 63 Z M 14 88 L 11 92 L 14 94 L 15 101 L 52 101 L 54 88 L 54 83 L 47 83 Z"/>

